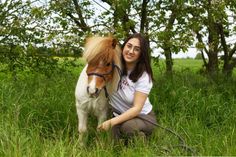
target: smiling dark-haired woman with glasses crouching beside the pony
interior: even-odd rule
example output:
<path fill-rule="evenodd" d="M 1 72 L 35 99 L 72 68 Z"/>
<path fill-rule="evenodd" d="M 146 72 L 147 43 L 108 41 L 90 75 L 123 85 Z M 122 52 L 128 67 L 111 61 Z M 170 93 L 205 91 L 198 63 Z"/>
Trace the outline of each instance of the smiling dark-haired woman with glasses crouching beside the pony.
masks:
<path fill-rule="evenodd" d="M 118 91 L 110 96 L 114 117 L 98 126 L 105 131 L 112 128 L 116 139 L 150 135 L 155 128 L 156 117 L 148 99 L 153 81 L 148 48 L 140 33 L 131 35 L 122 45 L 123 76 Z"/>

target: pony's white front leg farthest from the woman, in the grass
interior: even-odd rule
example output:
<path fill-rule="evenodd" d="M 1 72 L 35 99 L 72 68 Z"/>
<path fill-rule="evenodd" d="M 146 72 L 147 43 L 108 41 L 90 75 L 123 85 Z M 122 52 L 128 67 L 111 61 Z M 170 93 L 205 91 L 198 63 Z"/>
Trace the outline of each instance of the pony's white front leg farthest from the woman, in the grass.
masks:
<path fill-rule="evenodd" d="M 78 115 L 79 142 L 81 145 L 83 145 L 84 134 L 87 132 L 88 113 L 77 108 L 77 115 Z"/>

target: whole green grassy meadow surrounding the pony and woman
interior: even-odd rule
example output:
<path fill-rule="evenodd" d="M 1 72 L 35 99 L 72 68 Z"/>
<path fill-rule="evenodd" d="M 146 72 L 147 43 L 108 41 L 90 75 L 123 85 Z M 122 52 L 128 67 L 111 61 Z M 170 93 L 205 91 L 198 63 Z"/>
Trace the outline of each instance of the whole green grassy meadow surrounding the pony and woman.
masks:
<path fill-rule="evenodd" d="M 236 76 L 209 79 L 199 73 L 200 60 L 174 61 L 174 75 L 164 62 L 153 65 L 150 100 L 158 123 L 147 141 L 114 143 L 96 132 L 90 117 L 87 146 L 78 143 L 74 90 L 82 66 L 48 78 L 22 72 L 18 80 L 0 73 L 1 157 L 137 157 L 236 155 Z M 235 71 L 234 71 L 235 72 Z"/>

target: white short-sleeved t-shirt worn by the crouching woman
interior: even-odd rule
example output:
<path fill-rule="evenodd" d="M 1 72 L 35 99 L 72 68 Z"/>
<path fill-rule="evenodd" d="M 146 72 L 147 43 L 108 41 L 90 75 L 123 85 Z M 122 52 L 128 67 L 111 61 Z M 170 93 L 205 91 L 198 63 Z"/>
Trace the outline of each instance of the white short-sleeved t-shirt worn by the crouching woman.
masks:
<path fill-rule="evenodd" d="M 134 83 L 129 79 L 129 73 L 127 76 L 121 78 L 120 87 L 117 92 L 114 92 L 110 97 L 110 103 L 112 107 L 124 113 L 133 106 L 134 93 L 139 91 L 145 94 L 149 94 L 152 89 L 152 80 L 144 72 L 142 76 Z M 152 110 L 152 104 L 149 98 L 146 99 L 140 114 L 148 114 Z"/>

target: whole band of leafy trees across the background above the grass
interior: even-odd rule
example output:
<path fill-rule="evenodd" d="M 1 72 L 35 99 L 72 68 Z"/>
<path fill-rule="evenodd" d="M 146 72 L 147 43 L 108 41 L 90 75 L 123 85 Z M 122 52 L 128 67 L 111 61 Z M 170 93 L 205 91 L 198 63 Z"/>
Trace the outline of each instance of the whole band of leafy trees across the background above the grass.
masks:
<path fill-rule="evenodd" d="M 18 0 L 0 3 L 0 47 L 3 48 L 0 61 L 8 64 L 12 71 L 17 69 L 15 67 L 21 69 L 37 65 L 27 63 L 29 56 L 35 57 L 29 59 L 30 62 L 40 60 L 54 67 L 57 62 L 52 56 L 80 56 L 85 38 L 90 35 L 114 33 L 122 43 L 128 34 L 143 32 L 148 36 L 152 48 L 164 50 L 163 54 L 169 61 L 167 65 L 172 67 L 170 54 L 187 52 L 196 37 L 197 49 L 217 54 L 224 46 L 219 42 L 235 34 L 235 23 L 230 21 L 230 14 L 236 12 L 234 1 L 102 0 L 101 5 L 95 3 L 89 0 Z M 212 36 L 214 41 L 219 42 L 202 40 L 210 40 Z M 232 56 L 236 52 L 235 44 L 226 41 L 224 50 L 227 48 L 228 52 L 225 52 L 225 56 Z M 213 47 L 216 48 L 214 51 Z M 38 54 L 42 53 L 44 56 L 40 58 Z M 227 66 L 207 65 L 232 71 L 235 67 L 233 59 L 229 57 L 228 60 L 222 61 Z M 233 68 L 222 69 L 224 67 Z"/>

